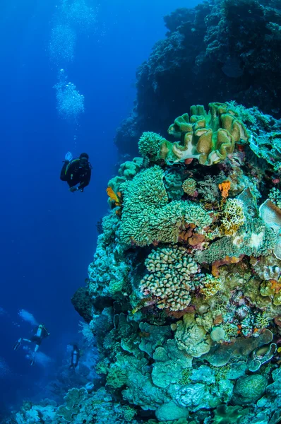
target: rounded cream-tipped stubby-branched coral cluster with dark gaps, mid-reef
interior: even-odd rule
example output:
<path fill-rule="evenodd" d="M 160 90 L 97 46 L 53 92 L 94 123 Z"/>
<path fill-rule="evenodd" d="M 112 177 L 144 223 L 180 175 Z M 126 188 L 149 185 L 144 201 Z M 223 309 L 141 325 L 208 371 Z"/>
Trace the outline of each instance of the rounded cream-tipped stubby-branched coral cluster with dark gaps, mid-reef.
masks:
<path fill-rule="evenodd" d="M 140 281 L 140 290 L 155 297 L 157 307 L 172 311 L 184 310 L 195 289 L 193 276 L 198 265 L 184 247 L 158 248 L 148 255 L 145 266 L 150 272 Z"/>

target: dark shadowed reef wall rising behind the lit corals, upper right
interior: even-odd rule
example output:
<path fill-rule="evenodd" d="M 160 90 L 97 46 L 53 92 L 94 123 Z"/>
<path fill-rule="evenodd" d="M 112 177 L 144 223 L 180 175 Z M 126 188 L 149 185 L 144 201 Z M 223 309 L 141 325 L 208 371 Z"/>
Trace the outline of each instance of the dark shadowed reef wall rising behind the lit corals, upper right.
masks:
<path fill-rule="evenodd" d="M 120 153 L 137 155 L 143 131 L 165 134 L 172 116 L 210 98 L 256 105 L 280 117 L 281 10 L 275 1 L 220 0 L 165 16 L 167 37 L 136 73 L 130 116 L 116 133 Z M 258 30 L 257 30 L 258 28 Z"/>

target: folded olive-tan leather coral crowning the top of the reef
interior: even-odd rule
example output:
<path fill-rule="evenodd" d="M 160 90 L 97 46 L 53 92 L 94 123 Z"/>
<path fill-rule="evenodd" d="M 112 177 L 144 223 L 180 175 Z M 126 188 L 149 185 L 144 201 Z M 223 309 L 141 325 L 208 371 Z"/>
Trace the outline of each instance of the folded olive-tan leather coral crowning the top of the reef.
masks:
<path fill-rule="evenodd" d="M 238 114 L 222 103 L 209 103 L 209 112 L 201 105 L 191 106 L 191 117 L 185 113 L 174 120 L 168 133 L 180 142 L 163 141 L 159 157 L 172 164 L 198 159 L 201 165 L 220 163 L 233 153 L 235 143 L 249 139 Z"/>

